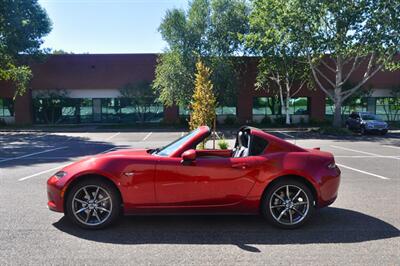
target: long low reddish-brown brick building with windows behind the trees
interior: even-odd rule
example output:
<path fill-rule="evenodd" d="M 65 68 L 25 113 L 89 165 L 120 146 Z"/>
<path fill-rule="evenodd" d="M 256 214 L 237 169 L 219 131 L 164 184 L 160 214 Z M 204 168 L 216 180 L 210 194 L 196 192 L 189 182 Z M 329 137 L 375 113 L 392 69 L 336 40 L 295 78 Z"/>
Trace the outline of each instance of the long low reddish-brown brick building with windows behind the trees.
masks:
<path fill-rule="evenodd" d="M 138 120 L 137 108 L 121 98 L 119 88 L 127 83 L 152 81 L 156 54 L 65 54 L 49 56 L 32 65 L 33 79 L 24 96 L 12 100 L 12 84 L 0 82 L 0 119 L 7 123 L 123 123 Z M 256 59 L 249 58 L 246 75 L 240 77 L 236 103 L 220 106 L 218 120 L 235 116 L 240 123 L 274 118 L 279 105 L 265 91 L 256 91 Z M 329 73 L 326 73 L 329 75 Z M 362 78 L 354 73 L 350 82 Z M 345 106 L 352 110 L 369 111 L 384 120 L 400 120 L 400 111 L 391 105 L 394 88 L 400 88 L 400 71 L 380 72 L 364 86 L 370 90 Z M 57 100 L 57 97 L 60 97 Z M 398 96 L 397 96 L 398 97 Z M 49 99 L 51 98 L 51 101 Z M 49 107 L 49 104 L 52 105 Z M 321 90 L 302 89 L 291 102 L 293 122 L 323 120 L 331 116 L 332 106 Z M 153 104 L 143 118 L 148 122 L 174 122 L 187 115 L 185 108 Z"/>

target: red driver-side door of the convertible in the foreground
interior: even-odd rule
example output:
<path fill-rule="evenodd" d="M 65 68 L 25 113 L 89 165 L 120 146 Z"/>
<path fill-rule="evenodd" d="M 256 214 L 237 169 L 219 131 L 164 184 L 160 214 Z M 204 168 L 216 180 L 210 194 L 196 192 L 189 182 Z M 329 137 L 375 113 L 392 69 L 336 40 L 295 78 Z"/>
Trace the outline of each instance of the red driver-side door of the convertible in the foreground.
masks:
<path fill-rule="evenodd" d="M 259 175 L 261 159 L 198 157 L 190 165 L 179 157 L 161 158 L 155 191 L 163 206 L 217 206 L 244 199 Z"/>

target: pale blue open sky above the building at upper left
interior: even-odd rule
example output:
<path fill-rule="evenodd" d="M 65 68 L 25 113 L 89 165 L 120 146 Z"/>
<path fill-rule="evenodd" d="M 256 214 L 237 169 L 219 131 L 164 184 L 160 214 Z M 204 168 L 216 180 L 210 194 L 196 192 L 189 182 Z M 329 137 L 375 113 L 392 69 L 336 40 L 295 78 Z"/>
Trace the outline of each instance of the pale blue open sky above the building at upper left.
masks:
<path fill-rule="evenodd" d="M 39 0 L 53 25 L 42 47 L 72 53 L 158 53 L 165 12 L 187 0 Z"/>

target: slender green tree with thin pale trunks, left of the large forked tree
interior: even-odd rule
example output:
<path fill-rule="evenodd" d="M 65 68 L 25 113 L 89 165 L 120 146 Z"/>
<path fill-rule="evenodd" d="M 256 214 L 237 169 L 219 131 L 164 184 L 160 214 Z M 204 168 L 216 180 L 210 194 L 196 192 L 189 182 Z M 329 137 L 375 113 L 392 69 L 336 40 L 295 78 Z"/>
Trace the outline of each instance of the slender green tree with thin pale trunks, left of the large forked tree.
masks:
<path fill-rule="evenodd" d="M 309 80 L 303 47 L 292 31 L 297 13 L 291 1 L 256 0 L 246 44 L 261 57 L 256 88 L 272 92 L 281 101 L 281 113 L 290 124 L 289 105 Z"/>

